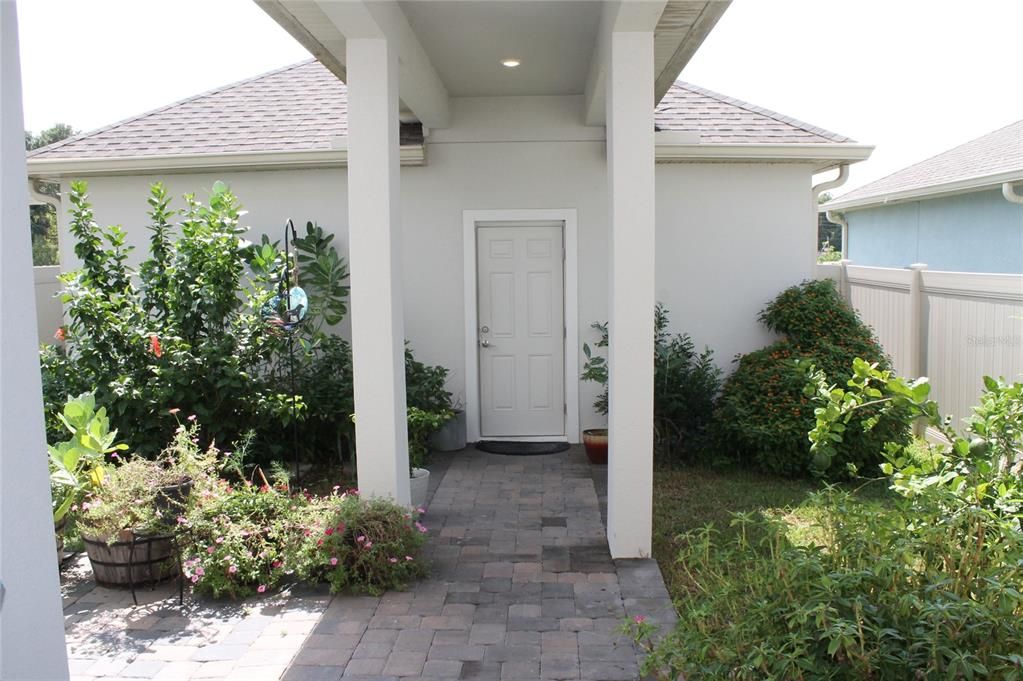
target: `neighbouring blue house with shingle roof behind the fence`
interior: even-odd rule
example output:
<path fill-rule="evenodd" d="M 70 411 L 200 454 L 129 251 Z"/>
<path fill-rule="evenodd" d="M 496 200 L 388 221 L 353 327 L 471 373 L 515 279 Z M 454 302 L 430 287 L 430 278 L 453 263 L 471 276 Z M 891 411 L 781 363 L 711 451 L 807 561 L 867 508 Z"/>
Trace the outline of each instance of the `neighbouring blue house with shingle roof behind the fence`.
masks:
<path fill-rule="evenodd" d="M 1014 186 L 1017 183 L 1017 186 Z M 1023 121 L 820 207 L 856 265 L 1023 273 Z"/>

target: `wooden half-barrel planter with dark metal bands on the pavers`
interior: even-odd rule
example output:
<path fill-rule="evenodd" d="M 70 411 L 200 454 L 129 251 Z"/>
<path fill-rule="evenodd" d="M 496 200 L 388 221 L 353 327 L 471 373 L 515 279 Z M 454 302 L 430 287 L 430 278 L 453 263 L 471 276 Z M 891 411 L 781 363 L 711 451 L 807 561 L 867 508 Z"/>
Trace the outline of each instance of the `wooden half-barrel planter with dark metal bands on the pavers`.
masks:
<path fill-rule="evenodd" d="M 134 537 L 114 543 L 82 537 L 82 541 L 100 586 L 154 584 L 180 572 L 173 537 Z"/>

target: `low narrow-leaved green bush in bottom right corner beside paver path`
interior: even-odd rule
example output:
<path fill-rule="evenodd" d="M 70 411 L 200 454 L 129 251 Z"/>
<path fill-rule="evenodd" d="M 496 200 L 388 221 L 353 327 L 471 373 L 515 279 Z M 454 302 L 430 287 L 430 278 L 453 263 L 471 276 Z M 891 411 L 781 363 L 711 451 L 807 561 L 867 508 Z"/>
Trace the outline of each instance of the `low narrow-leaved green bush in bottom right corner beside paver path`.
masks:
<path fill-rule="evenodd" d="M 662 679 L 1023 678 L 1023 536 L 929 497 L 877 508 L 847 493 L 809 502 L 827 547 L 794 546 L 777 520 L 680 538 L 691 577 L 676 629 L 649 646 Z M 975 534 L 975 533 L 980 534 Z M 751 538 L 756 537 L 757 540 Z"/>

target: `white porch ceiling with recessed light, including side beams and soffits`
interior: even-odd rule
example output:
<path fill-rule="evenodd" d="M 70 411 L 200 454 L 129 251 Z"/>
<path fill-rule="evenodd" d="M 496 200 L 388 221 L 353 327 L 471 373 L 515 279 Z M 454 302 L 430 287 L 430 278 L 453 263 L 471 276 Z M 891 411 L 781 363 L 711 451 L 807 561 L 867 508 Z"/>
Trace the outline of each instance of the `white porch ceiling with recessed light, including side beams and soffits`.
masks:
<path fill-rule="evenodd" d="M 448 97 L 586 95 L 603 124 L 608 19 L 653 27 L 659 101 L 730 0 L 254 0 L 343 81 L 346 36 L 395 39 L 403 118 L 447 125 Z M 659 18 L 658 18 L 659 17 Z M 649 21 L 649 24 L 648 24 Z M 630 28 L 626 30 L 636 30 Z M 649 30 L 649 29 L 646 29 Z M 502 59 L 521 65 L 507 69 Z M 657 101 L 652 102 L 656 104 Z"/>

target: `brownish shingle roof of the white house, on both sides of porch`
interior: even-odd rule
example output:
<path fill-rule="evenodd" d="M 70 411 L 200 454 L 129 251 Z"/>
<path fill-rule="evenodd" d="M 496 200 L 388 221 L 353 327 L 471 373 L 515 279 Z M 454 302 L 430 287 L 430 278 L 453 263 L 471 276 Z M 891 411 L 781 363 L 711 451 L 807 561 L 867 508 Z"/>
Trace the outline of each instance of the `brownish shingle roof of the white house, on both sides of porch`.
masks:
<path fill-rule="evenodd" d="M 852 141 L 682 82 L 675 83 L 658 105 L 655 124 L 658 130 L 698 132 L 706 143 Z M 310 60 L 56 142 L 29 156 L 108 158 L 304 151 L 329 149 L 335 138 L 347 134 L 347 88 L 325 66 Z"/>

